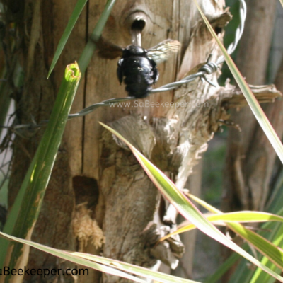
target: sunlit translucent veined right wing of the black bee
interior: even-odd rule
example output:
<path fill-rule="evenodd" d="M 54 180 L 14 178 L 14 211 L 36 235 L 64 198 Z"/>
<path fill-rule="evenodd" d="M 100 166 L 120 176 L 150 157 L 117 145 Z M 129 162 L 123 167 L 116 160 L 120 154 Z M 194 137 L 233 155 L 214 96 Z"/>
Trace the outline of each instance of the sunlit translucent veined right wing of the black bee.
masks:
<path fill-rule="evenodd" d="M 178 40 L 164 40 L 147 50 L 147 55 L 158 64 L 166 61 L 172 53 L 178 52 L 180 47 Z"/>

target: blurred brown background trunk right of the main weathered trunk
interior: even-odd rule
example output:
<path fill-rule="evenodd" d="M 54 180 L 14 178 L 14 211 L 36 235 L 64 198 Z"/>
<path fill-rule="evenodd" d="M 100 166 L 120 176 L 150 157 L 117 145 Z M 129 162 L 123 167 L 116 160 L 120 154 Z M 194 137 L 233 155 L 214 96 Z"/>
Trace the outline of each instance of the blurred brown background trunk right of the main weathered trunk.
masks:
<path fill-rule="evenodd" d="M 238 68 L 248 83 L 263 84 L 276 1 L 247 1 L 247 5 L 248 16 L 237 59 Z M 273 107 L 275 105 L 267 106 Z M 268 194 L 275 152 L 267 149 L 270 143 L 249 108 L 232 111 L 231 119 L 240 125 L 242 132 L 229 130 L 223 209 L 262 209 Z"/>

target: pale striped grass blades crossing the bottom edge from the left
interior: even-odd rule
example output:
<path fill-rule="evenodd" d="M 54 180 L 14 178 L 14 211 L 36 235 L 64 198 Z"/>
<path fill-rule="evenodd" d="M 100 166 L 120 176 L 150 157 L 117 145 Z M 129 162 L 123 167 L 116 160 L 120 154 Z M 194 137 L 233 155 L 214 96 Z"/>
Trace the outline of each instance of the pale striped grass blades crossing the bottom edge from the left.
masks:
<path fill-rule="evenodd" d="M 124 277 L 130 280 L 133 280 L 134 282 L 145 283 L 148 281 L 144 281 L 143 279 L 139 279 L 139 277 L 134 277 L 125 272 L 130 272 L 134 275 L 145 277 L 146 279 L 158 280 L 158 282 L 163 282 L 163 283 L 199 283 L 196 281 L 175 277 L 173 275 L 166 275 L 161 272 L 148 270 L 144 267 L 140 267 L 137 265 L 130 265 L 128 263 L 121 262 L 119 260 L 103 258 L 98 255 L 89 255 L 86 253 L 74 253 L 74 252 L 68 252 L 65 250 L 57 250 L 56 248 L 50 248 L 50 247 L 41 245 L 39 243 L 35 243 L 32 241 L 23 240 L 21 238 L 9 236 L 8 234 L 1 233 L 1 232 L 0 232 L 0 236 L 9 238 L 19 243 L 26 244 L 28 246 L 32 246 L 33 248 L 37 248 L 38 250 L 44 251 L 45 253 L 50 253 L 51 255 L 55 255 L 59 258 L 63 258 L 64 260 L 69 260 L 78 265 L 84 265 L 86 267 L 90 267 L 90 268 L 99 270 L 101 272 L 106 272 L 110 275 Z"/>

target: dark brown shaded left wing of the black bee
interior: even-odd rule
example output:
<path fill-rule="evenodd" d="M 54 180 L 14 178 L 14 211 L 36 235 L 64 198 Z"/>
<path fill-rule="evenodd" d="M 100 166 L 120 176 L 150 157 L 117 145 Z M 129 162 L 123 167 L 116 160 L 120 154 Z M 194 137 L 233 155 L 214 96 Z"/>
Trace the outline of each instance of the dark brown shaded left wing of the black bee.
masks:
<path fill-rule="evenodd" d="M 112 44 L 108 40 L 105 40 L 102 36 L 100 36 L 98 40 L 93 40 L 93 42 L 96 44 L 96 47 L 98 47 L 98 56 L 101 58 L 115 59 L 122 56 L 124 48 Z"/>

